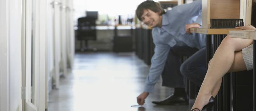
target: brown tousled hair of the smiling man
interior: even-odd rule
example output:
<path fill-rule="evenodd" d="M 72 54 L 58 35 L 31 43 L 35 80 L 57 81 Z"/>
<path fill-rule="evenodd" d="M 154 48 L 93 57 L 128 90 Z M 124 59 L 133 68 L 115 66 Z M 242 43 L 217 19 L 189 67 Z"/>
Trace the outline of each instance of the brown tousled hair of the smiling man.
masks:
<path fill-rule="evenodd" d="M 163 10 L 163 8 L 160 6 L 159 3 L 157 2 L 154 2 L 153 0 L 147 0 L 147 1 L 144 1 L 142 2 L 136 9 L 136 16 L 138 17 L 138 19 L 140 21 L 141 20 L 141 16 L 144 12 L 144 10 L 152 10 L 153 12 L 159 12 L 161 11 L 160 15 L 163 15 L 165 14 L 165 11 Z"/>

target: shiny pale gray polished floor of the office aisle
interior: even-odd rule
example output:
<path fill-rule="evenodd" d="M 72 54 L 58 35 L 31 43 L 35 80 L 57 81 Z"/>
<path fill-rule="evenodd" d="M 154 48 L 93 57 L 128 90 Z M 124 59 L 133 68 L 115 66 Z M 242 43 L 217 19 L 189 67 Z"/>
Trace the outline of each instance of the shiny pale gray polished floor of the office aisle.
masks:
<path fill-rule="evenodd" d="M 88 52 L 75 55 L 74 67 L 49 95 L 48 111 L 188 111 L 187 106 L 155 105 L 173 93 L 161 86 L 148 96 L 145 107 L 134 108 L 143 92 L 149 66 L 134 53 Z"/>

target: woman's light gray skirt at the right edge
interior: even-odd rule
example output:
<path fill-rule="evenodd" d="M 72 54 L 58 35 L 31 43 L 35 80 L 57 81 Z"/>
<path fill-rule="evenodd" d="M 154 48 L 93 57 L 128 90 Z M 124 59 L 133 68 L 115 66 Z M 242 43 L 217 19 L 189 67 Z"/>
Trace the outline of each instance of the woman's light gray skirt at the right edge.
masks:
<path fill-rule="evenodd" d="M 242 54 L 247 70 L 253 69 L 253 44 L 242 49 Z"/>

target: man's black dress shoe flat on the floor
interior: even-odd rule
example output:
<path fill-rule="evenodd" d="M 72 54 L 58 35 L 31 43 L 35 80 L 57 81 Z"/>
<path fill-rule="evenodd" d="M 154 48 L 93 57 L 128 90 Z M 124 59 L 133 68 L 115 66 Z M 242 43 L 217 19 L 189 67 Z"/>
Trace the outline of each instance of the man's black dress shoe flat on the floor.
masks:
<path fill-rule="evenodd" d="M 158 105 L 188 105 L 189 100 L 187 96 L 175 96 L 170 95 L 165 98 L 163 101 L 152 101 L 154 104 Z"/>

